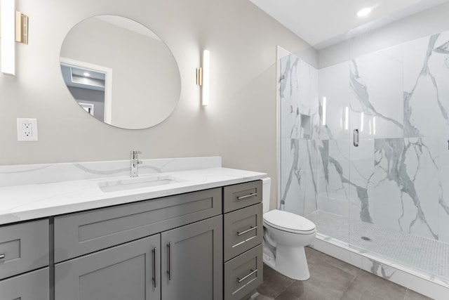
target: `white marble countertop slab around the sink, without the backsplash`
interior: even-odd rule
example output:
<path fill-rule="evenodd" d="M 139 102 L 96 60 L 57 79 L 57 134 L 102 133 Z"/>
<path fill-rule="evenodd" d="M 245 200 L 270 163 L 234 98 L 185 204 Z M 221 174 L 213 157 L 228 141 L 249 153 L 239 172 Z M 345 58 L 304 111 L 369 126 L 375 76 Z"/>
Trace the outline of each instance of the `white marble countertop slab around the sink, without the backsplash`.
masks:
<path fill-rule="evenodd" d="M 247 181 L 255 181 L 267 174 L 215 167 L 190 171 L 145 174 L 144 178 L 175 178 L 175 183 L 145 188 L 103 192 L 100 185 L 115 185 L 133 181 L 129 176 L 94 178 L 58 183 L 12 185 L 0 188 L 0 224 L 68 214 L 116 204 L 149 200 L 158 197 L 217 188 Z M 105 184 L 105 181 L 107 183 Z"/>

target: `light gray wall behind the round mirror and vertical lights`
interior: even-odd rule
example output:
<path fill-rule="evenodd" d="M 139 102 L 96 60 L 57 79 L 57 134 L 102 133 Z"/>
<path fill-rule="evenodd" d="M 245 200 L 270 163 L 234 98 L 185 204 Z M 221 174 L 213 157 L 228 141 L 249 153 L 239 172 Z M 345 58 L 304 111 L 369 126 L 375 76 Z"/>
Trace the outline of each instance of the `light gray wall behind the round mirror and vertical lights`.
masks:
<path fill-rule="evenodd" d="M 267 172 L 276 195 L 276 45 L 308 45 L 244 0 L 20 0 L 29 44 L 17 76 L 0 74 L 0 164 L 221 155 L 225 167 Z M 79 109 L 60 74 L 60 47 L 80 20 L 115 14 L 152 29 L 180 67 L 180 102 L 150 129 L 118 129 Z M 195 68 L 211 53 L 210 105 L 201 107 Z M 39 141 L 18 142 L 17 117 L 37 118 Z"/>

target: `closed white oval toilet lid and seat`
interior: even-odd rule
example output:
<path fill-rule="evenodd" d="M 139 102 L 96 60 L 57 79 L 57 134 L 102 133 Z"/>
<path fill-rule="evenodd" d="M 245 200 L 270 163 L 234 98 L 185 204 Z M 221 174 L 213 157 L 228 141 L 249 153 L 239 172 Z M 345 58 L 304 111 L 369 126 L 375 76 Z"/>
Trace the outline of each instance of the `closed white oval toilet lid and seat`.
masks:
<path fill-rule="evenodd" d="M 292 233 L 310 233 L 316 229 L 315 224 L 303 216 L 288 211 L 274 209 L 264 214 L 264 222 L 281 230 Z"/>

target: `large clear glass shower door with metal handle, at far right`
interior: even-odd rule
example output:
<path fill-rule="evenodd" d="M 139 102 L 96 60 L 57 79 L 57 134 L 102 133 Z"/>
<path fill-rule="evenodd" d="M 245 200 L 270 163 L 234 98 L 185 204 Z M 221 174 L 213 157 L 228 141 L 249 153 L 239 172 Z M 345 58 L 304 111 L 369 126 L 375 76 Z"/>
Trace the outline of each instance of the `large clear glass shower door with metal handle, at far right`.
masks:
<path fill-rule="evenodd" d="M 350 129 L 360 133 L 350 149 L 349 244 L 445 279 L 449 31 L 437 17 L 448 8 L 352 38 L 349 59 Z"/>

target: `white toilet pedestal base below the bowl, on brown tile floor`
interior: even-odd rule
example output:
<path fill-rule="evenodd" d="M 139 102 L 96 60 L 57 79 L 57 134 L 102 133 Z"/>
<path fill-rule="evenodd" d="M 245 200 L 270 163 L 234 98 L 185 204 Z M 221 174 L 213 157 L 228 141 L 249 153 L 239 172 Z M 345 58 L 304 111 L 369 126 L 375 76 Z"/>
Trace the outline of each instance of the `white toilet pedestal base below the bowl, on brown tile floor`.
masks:
<path fill-rule="evenodd" d="M 294 280 L 307 280 L 310 278 L 304 247 L 276 247 L 276 262 L 274 269 Z"/>

